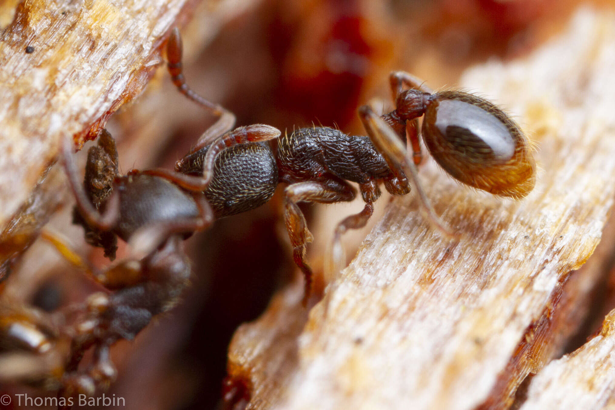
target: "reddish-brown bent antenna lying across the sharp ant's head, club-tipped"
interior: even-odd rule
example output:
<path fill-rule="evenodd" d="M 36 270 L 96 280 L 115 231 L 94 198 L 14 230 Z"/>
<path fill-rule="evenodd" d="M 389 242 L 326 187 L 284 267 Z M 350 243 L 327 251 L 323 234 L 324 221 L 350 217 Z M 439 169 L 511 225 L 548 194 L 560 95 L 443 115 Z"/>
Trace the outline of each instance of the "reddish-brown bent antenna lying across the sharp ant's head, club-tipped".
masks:
<path fill-rule="evenodd" d="M 202 162 L 200 162 L 200 158 L 202 156 L 191 156 L 191 154 L 188 154 L 188 156 L 183 157 L 175 164 L 175 169 L 177 171 L 186 171 L 192 168 L 202 169 L 202 177 L 189 176 L 182 173 L 173 173 L 172 171 L 160 168 L 143 171 L 143 173 L 148 175 L 164 176 L 164 178 L 171 179 L 174 183 L 184 189 L 203 192 L 212 181 L 216 156 L 224 148 L 229 148 L 239 144 L 275 140 L 279 136 L 280 130 L 271 127 L 270 125 L 254 124 L 239 127 L 224 134 L 212 143 L 207 149 L 207 154 L 205 154 L 205 159 L 202 159 Z M 170 175 L 173 176 L 171 177 Z"/>

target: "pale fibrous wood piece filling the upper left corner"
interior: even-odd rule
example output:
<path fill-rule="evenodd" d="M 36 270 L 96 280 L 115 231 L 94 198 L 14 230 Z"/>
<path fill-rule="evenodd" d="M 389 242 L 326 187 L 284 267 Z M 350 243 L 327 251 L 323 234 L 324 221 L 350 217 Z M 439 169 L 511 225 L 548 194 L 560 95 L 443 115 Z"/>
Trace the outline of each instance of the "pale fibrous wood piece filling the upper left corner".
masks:
<path fill-rule="evenodd" d="M 0 42 L 0 229 L 57 154 L 147 84 L 196 0 L 21 2 Z M 7 6 L 10 6 L 7 4 Z M 26 53 L 26 47 L 33 47 Z"/>

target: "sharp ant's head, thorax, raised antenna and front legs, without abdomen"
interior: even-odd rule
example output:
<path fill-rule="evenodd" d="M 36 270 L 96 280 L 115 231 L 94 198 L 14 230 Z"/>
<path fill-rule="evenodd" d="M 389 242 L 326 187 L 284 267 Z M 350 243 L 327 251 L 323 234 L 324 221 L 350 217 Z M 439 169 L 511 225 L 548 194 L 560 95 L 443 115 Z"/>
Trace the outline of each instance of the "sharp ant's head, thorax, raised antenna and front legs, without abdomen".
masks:
<path fill-rule="evenodd" d="M 181 69 L 181 37 L 173 30 L 167 45 L 169 71 L 181 93 L 217 115 L 219 119 L 199 138 L 192 151 L 178 160 L 175 170 L 202 176 L 204 191 L 215 218 L 235 215 L 260 207 L 271 199 L 278 183 L 285 183 L 284 221 L 293 246 L 293 259 L 305 277 L 304 304 L 312 282 L 312 270 L 306 261 L 306 243 L 311 242 L 305 218 L 298 203 L 336 203 L 351 201 L 359 184 L 365 208 L 338 224 L 335 243 L 347 229 L 365 226 L 373 213 L 373 202 L 381 192 L 395 195 L 410 192 L 400 167 L 389 167 L 368 136 L 349 136 L 335 128 L 300 128 L 280 136 L 277 155 L 268 144 L 237 144 L 229 147 L 223 137 L 235 124 L 235 116 L 220 106 L 199 97 L 189 89 Z M 168 170 L 148 171 L 151 175 L 169 175 Z M 341 247 L 341 246 L 340 246 Z"/>

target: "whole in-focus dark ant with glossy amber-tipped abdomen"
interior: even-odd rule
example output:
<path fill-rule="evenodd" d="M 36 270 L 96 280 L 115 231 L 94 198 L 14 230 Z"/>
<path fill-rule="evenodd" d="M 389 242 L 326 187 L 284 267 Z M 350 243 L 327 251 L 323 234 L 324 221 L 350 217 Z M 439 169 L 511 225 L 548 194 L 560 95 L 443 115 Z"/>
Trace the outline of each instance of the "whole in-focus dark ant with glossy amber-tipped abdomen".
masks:
<path fill-rule="evenodd" d="M 335 128 L 300 128 L 277 140 L 277 155 L 267 144 L 226 146 L 216 136 L 234 126 L 235 117 L 189 89 L 181 72 L 181 37 L 170 36 L 167 58 L 173 83 L 181 93 L 210 109 L 220 118 L 192 151 L 178 160 L 175 170 L 202 176 L 210 183 L 204 192 L 215 218 L 260 207 L 271 199 L 278 183 L 288 184 L 284 193 L 284 220 L 293 246 L 293 259 L 305 277 L 304 304 L 311 290 L 312 271 L 306 258 L 306 243 L 312 235 L 297 206 L 299 202 L 351 201 L 359 184 L 365 201 L 360 213 L 343 219 L 335 229 L 333 269 L 344 263 L 341 235 L 359 229 L 373 213 L 373 202 L 387 191 L 405 195 L 411 176 L 427 219 L 446 237 L 456 238 L 435 215 L 418 180 L 421 162 L 418 117 L 424 116 L 423 141 L 432 157 L 453 178 L 495 195 L 519 199 L 534 187 L 536 165 L 531 144 L 522 130 L 493 103 L 459 91 L 434 93 L 418 79 L 402 71 L 390 76 L 396 108 L 377 116 L 370 106 L 359 109 L 368 136 L 350 136 Z M 404 86 L 410 89 L 404 90 Z M 402 141 L 408 140 L 413 161 L 408 160 Z M 168 171 L 160 170 L 160 175 Z"/>

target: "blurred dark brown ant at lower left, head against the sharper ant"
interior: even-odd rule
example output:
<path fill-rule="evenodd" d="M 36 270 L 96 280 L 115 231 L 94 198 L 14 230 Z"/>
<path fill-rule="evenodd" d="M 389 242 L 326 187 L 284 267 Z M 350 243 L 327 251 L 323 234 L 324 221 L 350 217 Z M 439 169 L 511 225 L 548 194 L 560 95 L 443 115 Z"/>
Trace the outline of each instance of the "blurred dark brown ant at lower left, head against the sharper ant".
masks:
<path fill-rule="evenodd" d="M 261 141 L 279 134 L 268 125 L 250 125 L 226 133 L 221 141 Z M 88 385 L 67 385 L 66 396 L 74 391 L 91 392 L 89 385 L 108 384 L 114 379 L 109 347 L 119 339 L 132 340 L 155 315 L 177 304 L 191 274 L 183 239 L 213 221 L 212 209 L 202 193 L 206 186 L 202 178 L 156 170 L 119 175 L 115 141 L 102 130 L 98 145 L 88 152 L 84 189 L 73 151 L 72 138 L 66 138 L 62 156 L 76 198 L 75 222 L 85 227 L 88 242 L 105 248 L 109 258 L 115 257 L 117 237 L 129 242 L 131 253 L 98 270 L 58 235 L 43 232 L 65 259 L 106 290 L 91 295 L 83 307 L 75 309 L 81 317 L 75 326 L 72 365 L 67 370 L 76 371 L 83 352 L 94 346 L 90 371 L 94 376 L 85 379 L 91 382 Z"/>

